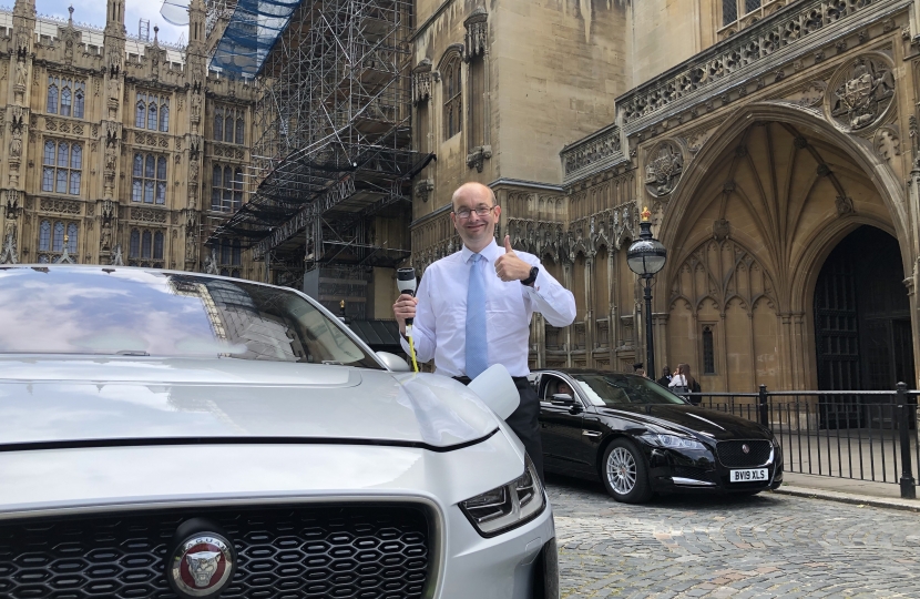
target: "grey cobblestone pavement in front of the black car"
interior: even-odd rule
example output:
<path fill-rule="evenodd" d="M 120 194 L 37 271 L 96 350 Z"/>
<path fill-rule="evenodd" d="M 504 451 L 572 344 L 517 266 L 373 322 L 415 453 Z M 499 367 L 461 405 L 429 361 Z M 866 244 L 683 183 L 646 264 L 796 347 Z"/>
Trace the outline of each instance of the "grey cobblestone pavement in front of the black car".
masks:
<path fill-rule="evenodd" d="M 562 597 L 917 597 L 920 514 L 777 494 L 630 506 L 550 478 Z"/>

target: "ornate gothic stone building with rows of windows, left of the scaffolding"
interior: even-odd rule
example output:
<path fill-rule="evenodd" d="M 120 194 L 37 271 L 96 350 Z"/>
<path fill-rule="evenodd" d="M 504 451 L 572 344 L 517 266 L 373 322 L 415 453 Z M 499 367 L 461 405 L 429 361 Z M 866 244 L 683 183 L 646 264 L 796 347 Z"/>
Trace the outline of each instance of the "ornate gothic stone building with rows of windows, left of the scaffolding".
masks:
<path fill-rule="evenodd" d="M 252 81 L 206 70 L 205 7 L 186 48 L 0 12 L 0 263 L 125 264 L 258 278 L 238 244 L 202 246 L 244 201 Z"/>

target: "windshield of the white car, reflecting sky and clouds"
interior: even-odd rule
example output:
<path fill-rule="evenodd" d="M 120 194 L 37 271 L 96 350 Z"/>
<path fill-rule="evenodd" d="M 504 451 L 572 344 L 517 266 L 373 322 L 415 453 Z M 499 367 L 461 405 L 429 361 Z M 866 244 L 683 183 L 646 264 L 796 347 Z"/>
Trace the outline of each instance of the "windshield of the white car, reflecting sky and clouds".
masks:
<path fill-rule="evenodd" d="M 380 365 L 280 287 L 125 267 L 0 267 L 0 353 Z"/>

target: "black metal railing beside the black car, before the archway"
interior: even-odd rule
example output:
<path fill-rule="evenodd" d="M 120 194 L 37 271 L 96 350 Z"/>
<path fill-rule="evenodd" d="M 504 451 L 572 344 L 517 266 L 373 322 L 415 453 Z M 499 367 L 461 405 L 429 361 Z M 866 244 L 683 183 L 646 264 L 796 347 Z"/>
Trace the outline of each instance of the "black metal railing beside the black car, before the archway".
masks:
<path fill-rule="evenodd" d="M 773 430 L 784 469 L 856 480 L 898 484 L 917 497 L 920 479 L 918 390 L 901 383 L 890 392 L 770 392 L 687 394 L 694 404 Z"/>

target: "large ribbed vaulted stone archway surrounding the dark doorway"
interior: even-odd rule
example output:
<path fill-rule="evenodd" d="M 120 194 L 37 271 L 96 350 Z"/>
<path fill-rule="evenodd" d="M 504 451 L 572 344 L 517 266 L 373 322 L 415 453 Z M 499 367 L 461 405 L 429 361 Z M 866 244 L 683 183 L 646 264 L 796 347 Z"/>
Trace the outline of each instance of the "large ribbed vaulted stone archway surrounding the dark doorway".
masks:
<path fill-rule="evenodd" d="M 689 363 L 705 390 L 814 388 L 817 271 L 861 224 L 906 236 L 902 204 L 888 194 L 887 166 L 870 177 L 870 159 L 821 126 L 777 120 L 775 109 L 749 116 L 722 128 L 667 206 L 662 357 Z"/>

